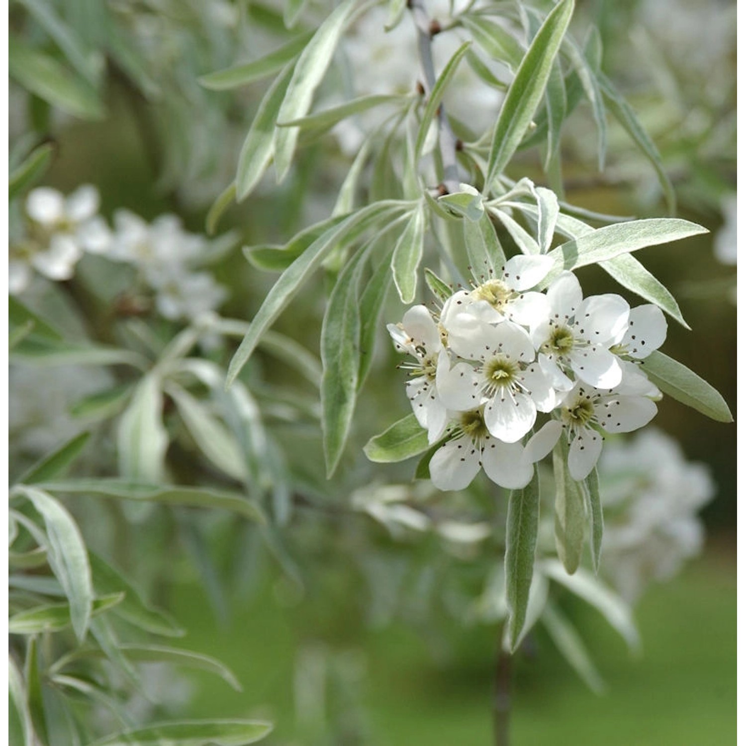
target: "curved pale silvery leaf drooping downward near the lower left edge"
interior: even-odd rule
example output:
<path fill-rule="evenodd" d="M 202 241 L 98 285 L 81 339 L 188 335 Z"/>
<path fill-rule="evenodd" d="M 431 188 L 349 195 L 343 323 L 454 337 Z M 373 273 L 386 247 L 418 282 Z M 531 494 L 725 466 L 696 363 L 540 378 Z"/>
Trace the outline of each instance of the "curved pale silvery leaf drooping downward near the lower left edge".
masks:
<path fill-rule="evenodd" d="M 44 518 L 47 560 L 69 601 L 72 627 L 79 640 L 86 636 L 93 606 L 93 582 L 86 545 L 67 510 L 42 489 L 16 488 Z"/>

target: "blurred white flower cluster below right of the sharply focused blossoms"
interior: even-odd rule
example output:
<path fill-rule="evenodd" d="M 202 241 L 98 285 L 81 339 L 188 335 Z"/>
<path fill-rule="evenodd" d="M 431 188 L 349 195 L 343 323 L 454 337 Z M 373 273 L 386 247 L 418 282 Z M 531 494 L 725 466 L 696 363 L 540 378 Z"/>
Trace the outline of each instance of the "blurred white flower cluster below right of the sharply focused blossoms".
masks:
<path fill-rule="evenodd" d="M 653 580 L 673 577 L 702 549 L 698 511 L 715 495 L 707 467 L 689 463 L 678 443 L 649 428 L 601 457 L 604 501 L 602 571 L 636 601 Z"/>

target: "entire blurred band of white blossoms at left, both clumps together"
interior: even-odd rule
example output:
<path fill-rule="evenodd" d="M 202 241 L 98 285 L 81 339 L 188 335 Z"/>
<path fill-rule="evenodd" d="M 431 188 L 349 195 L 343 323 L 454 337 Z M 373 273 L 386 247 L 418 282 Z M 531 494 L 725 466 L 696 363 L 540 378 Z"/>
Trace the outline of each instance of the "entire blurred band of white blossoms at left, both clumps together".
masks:
<path fill-rule="evenodd" d="M 177 216 L 148 223 L 117 210 L 112 230 L 98 207 L 98 191 L 90 184 L 67 197 L 48 186 L 32 190 L 25 202 L 25 236 L 10 247 L 10 292 L 23 292 L 34 269 L 50 280 L 69 280 L 88 252 L 134 266 L 166 319 L 195 321 L 225 301 L 225 288 L 209 273 L 195 271 L 210 248 L 206 239 L 184 231 Z"/>

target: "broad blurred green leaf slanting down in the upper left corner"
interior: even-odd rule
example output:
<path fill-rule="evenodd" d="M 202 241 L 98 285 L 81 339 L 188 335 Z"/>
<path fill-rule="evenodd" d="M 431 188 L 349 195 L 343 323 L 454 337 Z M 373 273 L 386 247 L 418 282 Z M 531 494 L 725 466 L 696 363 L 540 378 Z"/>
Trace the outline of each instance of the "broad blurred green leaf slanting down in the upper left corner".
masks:
<path fill-rule="evenodd" d="M 8 42 L 8 72 L 23 87 L 81 119 L 103 119 L 104 107 L 95 89 L 68 69 L 11 34 Z"/>

